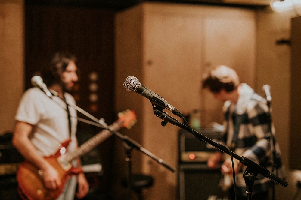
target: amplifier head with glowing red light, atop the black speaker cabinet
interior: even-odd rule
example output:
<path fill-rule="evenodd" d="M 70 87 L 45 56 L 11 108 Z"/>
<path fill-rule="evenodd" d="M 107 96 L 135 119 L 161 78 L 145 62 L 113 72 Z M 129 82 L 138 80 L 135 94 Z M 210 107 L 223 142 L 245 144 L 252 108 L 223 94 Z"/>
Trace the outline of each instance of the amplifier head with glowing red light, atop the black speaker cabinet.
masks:
<path fill-rule="evenodd" d="M 215 128 L 201 128 L 198 132 L 215 142 L 222 138 Z M 215 147 L 195 138 L 192 133 L 179 130 L 179 163 L 204 163 L 215 151 Z"/>

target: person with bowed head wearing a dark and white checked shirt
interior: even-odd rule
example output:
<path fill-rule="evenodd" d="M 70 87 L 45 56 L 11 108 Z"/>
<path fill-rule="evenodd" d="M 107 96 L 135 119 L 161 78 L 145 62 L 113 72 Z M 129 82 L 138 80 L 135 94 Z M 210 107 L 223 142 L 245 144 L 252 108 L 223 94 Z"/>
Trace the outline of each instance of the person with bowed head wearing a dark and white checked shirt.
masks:
<path fill-rule="evenodd" d="M 239 156 L 247 157 L 264 168 L 283 177 L 279 145 L 275 140 L 274 126 L 267 100 L 256 94 L 246 83 L 240 83 L 237 73 L 230 67 L 219 65 L 204 76 L 203 88 L 209 89 L 217 100 L 224 102 L 225 127 L 223 143 Z M 272 139 L 272 140 L 271 140 Z M 271 151 L 272 149 L 275 151 Z M 271 152 L 277 152 L 271 162 Z M 232 163 L 221 151 L 216 151 L 207 161 L 209 168 L 219 163 L 224 175 L 223 188 L 234 199 Z M 234 159 L 237 199 L 247 199 L 246 183 L 243 178 L 246 166 Z M 254 181 L 253 199 L 269 199 L 273 181 L 258 174 Z M 228 180 L 228 181 L 227 181 Z M 227 184 L 228 183 L 228 184 Z"/>

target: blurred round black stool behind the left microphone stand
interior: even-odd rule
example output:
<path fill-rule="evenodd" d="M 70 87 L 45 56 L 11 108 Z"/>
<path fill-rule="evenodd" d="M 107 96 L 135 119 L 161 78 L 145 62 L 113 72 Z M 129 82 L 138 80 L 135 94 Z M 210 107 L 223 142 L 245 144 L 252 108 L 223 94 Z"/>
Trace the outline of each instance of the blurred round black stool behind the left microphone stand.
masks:
<path fill-rule="evenodd" d="M 137 193 L 139 199 L 142 200 L 142 189 L 153 186 L 154 178 L 152 176 L 143 174 L 133 174 L 131 179 L 131 189 L 134 190 Z M 122 178 L 121 184 L 123 187 L 127 187 L 126 177 Z"/>

